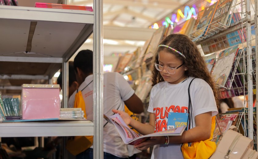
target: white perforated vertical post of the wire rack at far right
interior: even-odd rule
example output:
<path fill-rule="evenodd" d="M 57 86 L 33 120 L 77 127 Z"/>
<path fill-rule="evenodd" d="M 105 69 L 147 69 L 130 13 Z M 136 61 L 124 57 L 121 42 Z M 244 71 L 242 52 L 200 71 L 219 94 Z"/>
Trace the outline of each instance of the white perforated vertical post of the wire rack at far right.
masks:
<path fill-rule="evenodd" d="M 248 80 L 248 137 L 253 139 L 253 97 L 252 97 L 252 37 L 250 0 L 245 0 L 246 34 L 247 34 L 247 80 Z"/>

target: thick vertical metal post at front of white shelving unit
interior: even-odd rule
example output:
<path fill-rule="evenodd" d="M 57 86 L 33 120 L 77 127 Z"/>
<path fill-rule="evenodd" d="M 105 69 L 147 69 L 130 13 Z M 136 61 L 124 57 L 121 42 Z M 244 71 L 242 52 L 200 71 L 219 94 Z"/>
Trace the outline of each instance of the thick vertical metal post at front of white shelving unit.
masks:
<path fill-rule="evenodd" d="M 103 0 L 94 0 L 93 11 L 93 158 L 103 159 Z"/>

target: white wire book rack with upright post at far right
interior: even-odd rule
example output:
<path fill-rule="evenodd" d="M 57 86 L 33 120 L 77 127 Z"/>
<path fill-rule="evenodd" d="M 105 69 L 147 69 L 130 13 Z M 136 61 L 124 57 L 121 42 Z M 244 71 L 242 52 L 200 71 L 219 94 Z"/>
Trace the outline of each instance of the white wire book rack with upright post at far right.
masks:
<path fill-rule="evenodd" d="M 214 39 L 218 39 L 219 37 L 225 36 L 233 31 L 238 31 L 241 30 L 242 33 L 245 31 L 246 32 L 246 38 L 244 38 L 244 35 L 242 35 L 242 39 L 243 39 L 243 43 L 242 43 L 242 47 L 243 50 L 245 48 L 246 51 L 243 51 L 243 55 L 238 55 L 238 57 L 236 57 L 236 61 L 234 63 L 235 68 L 237 67 L 238 63 L 239 63 L 239 58 L 243 58 L 244 59 L 244 71 L 241 73 L 236 73 L 236 70 L 233 70 L 233 76 L 234 75 L 241 75 L 241 76 L 246 76 L 246 80 L 244 79 L 244 93 L 248 96 L 248 100 L 245 100 L 245 103 L 247 103 L 248 106 L 248 137 L 253 139 L 254 138 L 254 133 L 253 133 L 253 68 L 252 68 L 252 59 L 254 59 L 254 55 L 252 54 L 252 41 L 255 39 L 256 43 L 256 60 L 258 60 L 258 33 L 257 33 L 257 24 L 258 24 L 258 17 L 257 17 L 257 1 L 254 0 L 255 2 L 255 7 L 253 7 L 253 5 L 251 4 L 251 0 L 240 0 L 240 2 L 236 2 L 235 5 L 233 5 L 233 7 L 231 8 L 231 13 L 233 13 L 234 10 L 239 11 L 236 6 L 240 6 L 241 8 L 241 12 L 240 12 L 240 16 L 241 16 L 241 20 L 236 21 L 233 24 L 230 24 L 231 18 L 232 18 L 232 14 L 229 17 L 229 21 L 227 22 L 227 24 L 225 26 L 222 25 L 217 25 L 216 22 L 209 24 L 208 26 L 205 26 L 203 28 L 200 28 L 198 31 L 203 31 L 206 28 L 212 28 L 209 29 L 210 31 L 207 32 L 204 36 L 201 36 L 201 38 L 197 38 L 194 36 L 195 32 L 190 34 L 190 38 L 196 40 L 195 41 L 197 44 L 204 44 L 206 42 L 210 42 Z M 252 6 L 252 8 L 251 8 Z M 255 14 L 254 18 L 251 18 L 251 13 Z M 239 13 L 239 12 L 238 12 Z M 219 26 L 216 27 L 215 25 Z M 253 37 L 251 34 L 251 25 L 254 25 L 255 30 L 256 30 L 256 36 Z M 215 31 L 214 31 L 215 30 Z M 225 39 L 221 39 L 221 41 L 224 41 Z M 227 40 L 227 39 L 226 39 Z M 214 40 L 215 41 L 215 40 Z M 218 41 L 218 40 L 217 40 Z M 210 44 L 213 45 L 213 44 Z M 241 44 L 240 44 L 241 45 Z M 247 62 L 247 64 L 245 64 L 245 62 Z M 256 65 L 256 70 L 258 69 L 257 65 Z M 231 79 L 231 82 L 233 82 L 234 77 Z M 256 73 L 256 79 L 258 79 L 258 75 Z M 230 87 L 222 87 L 223 89 L 230 89 L 232 86 L 232 83 L 230 84 Z M 247 89 L 246 89 L 247 88 Z M 258 84 L 256 82 L 256 88 L 258 88 Z M 256 99 L 258 99 L 258 91 L 256 89 Z M 256 100 L 256 105 L 258 105 L 258 102 Z M 257 109 L 256 109 L 257 111 Z M 245 111 L 244 111 L 245 112 Z M 258 111 L 257 111 L 258 112 Z M 256 119 L 257 119 L 257 112 L 256 112 Z M 256 125 L 258 124 L 258 122 L 256 121 Z M 257 132 L 256 132 L 257 134 Z M 256 136 L 255 136 L 256 137 Z M 256 143 L 257 144 L 257 143 Z"/>

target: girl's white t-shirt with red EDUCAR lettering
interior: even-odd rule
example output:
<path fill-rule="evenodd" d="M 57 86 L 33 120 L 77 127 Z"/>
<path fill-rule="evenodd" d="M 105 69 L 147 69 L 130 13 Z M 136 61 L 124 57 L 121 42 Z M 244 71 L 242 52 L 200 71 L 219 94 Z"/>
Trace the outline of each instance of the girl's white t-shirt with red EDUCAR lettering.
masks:
<path fill-rule="evenodd" d="M 155 115 L 155 132 L 167 130 L 167 112 L 186 113 L 188 110 L 188 87 L 193 77 L 189 77 L 182 83 L 170 84 L 160 82 L 156 84 L 150 95 L 148 112 Z M 208 83 L 202 79 L 194 79 L 190 86 L 193 114 L 212 112 L 212 116 L 218 113 L 213 91 Z M 167 110 L 167 112 L 166 112 Z M 195 120 L 193 118 L 193 125 Z M 171 158 L 183 159 L 181 144 L 155 145 L 152 159 Z"/>

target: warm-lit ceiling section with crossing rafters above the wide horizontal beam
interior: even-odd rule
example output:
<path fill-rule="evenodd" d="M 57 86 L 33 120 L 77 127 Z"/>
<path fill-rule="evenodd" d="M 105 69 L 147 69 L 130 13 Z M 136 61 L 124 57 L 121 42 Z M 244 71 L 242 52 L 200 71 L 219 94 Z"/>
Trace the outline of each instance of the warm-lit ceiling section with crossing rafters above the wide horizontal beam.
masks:
<path fill-rule="evenodd" d="M 103 24 L 148 28 L 188 0 L 103 0 Z M 93 6 L 93 0 L 68 0 L 70 5 Z"/>

